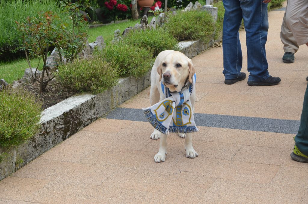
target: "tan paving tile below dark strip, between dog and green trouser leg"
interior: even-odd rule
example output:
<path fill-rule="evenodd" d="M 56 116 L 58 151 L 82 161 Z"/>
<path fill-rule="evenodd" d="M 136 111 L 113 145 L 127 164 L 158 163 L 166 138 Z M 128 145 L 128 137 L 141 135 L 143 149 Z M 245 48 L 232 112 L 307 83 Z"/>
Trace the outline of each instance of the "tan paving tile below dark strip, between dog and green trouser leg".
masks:
<path fill-rule="evenodd" d="M 268 133 L 227 128 L 210 128 L 201 140 L 290 149 L 294 147 L 293 137 L 293 134 Z"/>

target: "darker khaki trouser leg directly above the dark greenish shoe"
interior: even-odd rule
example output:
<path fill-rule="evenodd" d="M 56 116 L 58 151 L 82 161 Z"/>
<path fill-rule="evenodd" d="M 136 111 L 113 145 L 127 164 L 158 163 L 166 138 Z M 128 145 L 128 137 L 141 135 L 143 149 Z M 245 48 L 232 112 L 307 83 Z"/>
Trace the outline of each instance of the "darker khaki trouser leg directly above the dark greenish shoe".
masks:
<path fill-rule="evenodd" d="M 287 9 L 288 9 L 288 4 L 287 4 Z M 283 19 L 282 19 L 282 25 L 281 25 L 281 30 L 280 30 L 280 39 L 281 39 L 281 42 L 283 44 L 284 52 L 296 53 L 298 51 L 299 46 L 298 46 L 292 32 L 290 31 L 289 27 L 286 24 L 286 12 L 285 12 L 285 15 L 283 16 Z"/>

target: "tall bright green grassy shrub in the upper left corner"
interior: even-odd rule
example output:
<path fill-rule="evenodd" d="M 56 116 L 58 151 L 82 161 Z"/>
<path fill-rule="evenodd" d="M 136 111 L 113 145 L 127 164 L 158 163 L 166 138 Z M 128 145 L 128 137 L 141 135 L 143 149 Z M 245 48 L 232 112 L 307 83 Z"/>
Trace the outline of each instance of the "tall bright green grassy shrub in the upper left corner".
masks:
<path fill-rule="evenodd" d="M 61 19 L 68 18 L 62 12 L 58 0 L 1 0 L 0 1 L 0 55 L 12 53 L 22 45 L 20 31 L 16 30 L 19 23 L 26 22 L 27 16 L 38 17 L 39 11 L 52 11 L 59 13 Z"/>

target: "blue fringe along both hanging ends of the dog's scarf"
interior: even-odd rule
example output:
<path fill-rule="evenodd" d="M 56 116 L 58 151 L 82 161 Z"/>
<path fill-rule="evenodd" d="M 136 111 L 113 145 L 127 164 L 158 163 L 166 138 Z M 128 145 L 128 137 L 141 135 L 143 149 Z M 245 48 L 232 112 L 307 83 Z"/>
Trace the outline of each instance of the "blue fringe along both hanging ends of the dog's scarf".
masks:
<path fill-rule="evenodd" d="M 160 124 L 156 117 L 151 112 L 150 108 L 142 108 L 145 117 L 152 124 L 152 126 L 161 133 L 168 135 L 169 133 L 195 133 L 198 132 L 196 126 L 184 127 L 184 126 L 169 126 L 167 129 L 164 125 Z"/>

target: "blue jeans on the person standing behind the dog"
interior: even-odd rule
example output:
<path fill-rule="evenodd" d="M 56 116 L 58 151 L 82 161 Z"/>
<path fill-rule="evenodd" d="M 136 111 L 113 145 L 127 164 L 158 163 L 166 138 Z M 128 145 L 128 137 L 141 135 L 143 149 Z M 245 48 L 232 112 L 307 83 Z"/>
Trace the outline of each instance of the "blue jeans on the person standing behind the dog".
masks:
<path fill-rule="evenodd" d="M 265 54 L 268 31 L 267 4 L 262 0 L 223 0 L 225 16 L 223 22 L 222 50 L 225 79 L 240 76 L 242 51 L 239 28 L 244 19 L 247 46 L 248 81 L 262 81 L 270 77 Z"/>

